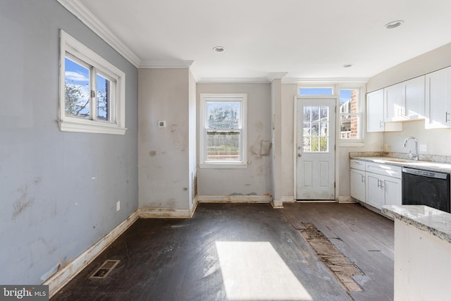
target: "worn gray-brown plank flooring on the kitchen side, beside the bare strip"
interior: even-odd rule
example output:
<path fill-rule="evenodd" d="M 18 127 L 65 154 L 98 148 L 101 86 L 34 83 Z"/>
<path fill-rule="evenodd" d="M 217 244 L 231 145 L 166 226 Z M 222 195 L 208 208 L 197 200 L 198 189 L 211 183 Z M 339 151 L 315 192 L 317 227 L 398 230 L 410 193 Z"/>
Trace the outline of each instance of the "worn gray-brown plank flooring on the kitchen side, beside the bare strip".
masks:
<path fill-rule="evenodd" d="M 360 204 L 295 203 L 282 211 L 304 237 L 314 226 L 357 266 L 352 278 L 363 290 L 350 292 L 354 300 L 393 300 L 393 221 Z"/>

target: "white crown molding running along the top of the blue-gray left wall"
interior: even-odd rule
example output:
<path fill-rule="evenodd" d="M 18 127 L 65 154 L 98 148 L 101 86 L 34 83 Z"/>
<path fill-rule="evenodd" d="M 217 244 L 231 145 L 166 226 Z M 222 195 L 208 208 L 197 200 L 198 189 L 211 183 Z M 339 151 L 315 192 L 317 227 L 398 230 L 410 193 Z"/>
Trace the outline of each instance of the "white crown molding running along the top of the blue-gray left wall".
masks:
<path fill-rule="evenodd" d="M 87 27 L 89 27 L 96 35 L 101 37 L 113 49 L 118 51 L 125 59 L 130 61 L 135 67 L 140 66 L 141 59 L 128 48 L 116 35 L 109 30 L 104 23 L 94 16 L 89 9 L 86 8 L 78 0 L 56 0 L 64 6 L 70 13 L 80 19 Z"/>

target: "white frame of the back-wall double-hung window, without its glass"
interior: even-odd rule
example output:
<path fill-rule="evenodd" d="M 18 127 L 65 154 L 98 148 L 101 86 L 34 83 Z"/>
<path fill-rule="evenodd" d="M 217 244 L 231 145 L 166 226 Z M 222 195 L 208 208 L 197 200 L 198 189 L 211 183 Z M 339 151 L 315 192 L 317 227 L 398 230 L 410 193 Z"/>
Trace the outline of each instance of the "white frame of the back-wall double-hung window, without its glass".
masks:
<path fill-rule="evenodd" d="M 206 159 L 206 131 L 207 131 L 207 102 L 227 102 L 240 101 L 240 159 L 238 160 L 207 160 Z M 199 168 L 247 168 L 247 94 L 220 94 L 202 93 L 200 94 L 199 108 Z"/>

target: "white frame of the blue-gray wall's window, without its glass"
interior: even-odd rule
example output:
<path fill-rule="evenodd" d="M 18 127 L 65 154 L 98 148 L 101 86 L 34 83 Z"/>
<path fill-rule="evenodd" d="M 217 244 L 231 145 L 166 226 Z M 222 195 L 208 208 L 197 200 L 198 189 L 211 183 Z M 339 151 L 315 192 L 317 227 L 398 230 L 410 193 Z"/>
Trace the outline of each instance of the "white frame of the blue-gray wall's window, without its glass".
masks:
<path fill-rule="evenodd" d="M 95 85 L 95 74 L 104 76 L 111 82 L 111 99 L 109 99 L 110 121 L 97 120 L 93 110 L 91 118 L 80 118 L 66 115 L 65 103 L 65 59 L 75 59 L 92 67 L 95 72 L 90 73 L 89 79 L 92 87 Z M 78 62 L 77 62 L 78 63 Z M 124 135 L 125 128 L 125 73 L 103 59 L 84 44 L 79 42 L 67 32 L 60 30 L 60 74 L 59 74 L 59 110 L 58 125 L 61 131 L 78 133 L 99 133 Z M 90 102 L 95 102 L 95 96 L 90 97 Z"/>

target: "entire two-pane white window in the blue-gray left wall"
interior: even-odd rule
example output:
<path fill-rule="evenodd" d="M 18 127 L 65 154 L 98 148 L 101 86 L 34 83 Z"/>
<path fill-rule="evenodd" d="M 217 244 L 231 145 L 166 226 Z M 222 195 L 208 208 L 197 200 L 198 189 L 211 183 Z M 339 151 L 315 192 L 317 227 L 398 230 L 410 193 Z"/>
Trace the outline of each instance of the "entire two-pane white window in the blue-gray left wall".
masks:
<path fill-rule="evenodd" d="M 125 73 L 60 30 L 62 131 L 125 133 Z"/>

